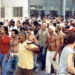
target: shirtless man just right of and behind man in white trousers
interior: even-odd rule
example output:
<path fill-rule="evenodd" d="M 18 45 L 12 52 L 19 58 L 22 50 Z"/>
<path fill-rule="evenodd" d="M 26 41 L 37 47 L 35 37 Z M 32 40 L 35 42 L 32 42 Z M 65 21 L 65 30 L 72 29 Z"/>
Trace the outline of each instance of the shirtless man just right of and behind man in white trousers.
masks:
<path fill-rule="evenodd" d="M 60 26 L 56 26 L 56 33 L 58 35 L 58 41 L 60 42 L 60 50 L 59 50 L 59 56 L 61 55 L 62 47 L 64 45 L 64 34 L 61 32 Z"/>

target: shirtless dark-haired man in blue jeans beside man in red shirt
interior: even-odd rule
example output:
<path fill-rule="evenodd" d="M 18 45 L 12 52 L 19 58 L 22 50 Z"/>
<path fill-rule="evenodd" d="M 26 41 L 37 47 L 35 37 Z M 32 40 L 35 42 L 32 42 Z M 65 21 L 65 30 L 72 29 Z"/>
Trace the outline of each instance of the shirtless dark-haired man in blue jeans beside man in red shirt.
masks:
<path fill-rule="evenodd" d="M 5 59 L 5 61 L 8 63 L 7 72 L 6 72 L 7 75 L 11 75 L 11 74 L 14 75 L 18 63 L 19 41 L 17 35 L 18 35 L 18 31 L 16 29 L 13 29 L 9 53 Z"/>

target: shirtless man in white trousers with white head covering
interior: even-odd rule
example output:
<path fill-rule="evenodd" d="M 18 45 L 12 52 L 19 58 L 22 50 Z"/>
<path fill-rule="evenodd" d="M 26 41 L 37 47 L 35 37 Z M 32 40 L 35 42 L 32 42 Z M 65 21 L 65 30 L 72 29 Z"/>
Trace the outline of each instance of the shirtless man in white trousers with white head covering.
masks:
<path fill-rule="evenodd" d="M 49 34 L 48 37 L 48 48 L 46 55 L 46 73 L 47 75 L 51 75 L 51 64 L 54 67 L 56 72 L 58 66 L 58 51 L 59 51 L 59 41 L 57 35 L 54 33 L 55 27 L 49 26 Z"/>

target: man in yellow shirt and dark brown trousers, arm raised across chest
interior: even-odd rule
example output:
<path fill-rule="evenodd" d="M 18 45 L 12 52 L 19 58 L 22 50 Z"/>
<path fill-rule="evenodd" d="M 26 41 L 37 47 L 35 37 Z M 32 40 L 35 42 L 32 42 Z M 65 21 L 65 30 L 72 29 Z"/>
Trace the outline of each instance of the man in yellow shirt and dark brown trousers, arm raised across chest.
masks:
<path fill-rule="evenodd" d="M 19 44 L 19 62 L 16 75 L 33 75 L 33 52 L 39 51 L 39 48 L 34 44 L 28 44 L 26 34 L 20 32 L 18 35 Z"/>

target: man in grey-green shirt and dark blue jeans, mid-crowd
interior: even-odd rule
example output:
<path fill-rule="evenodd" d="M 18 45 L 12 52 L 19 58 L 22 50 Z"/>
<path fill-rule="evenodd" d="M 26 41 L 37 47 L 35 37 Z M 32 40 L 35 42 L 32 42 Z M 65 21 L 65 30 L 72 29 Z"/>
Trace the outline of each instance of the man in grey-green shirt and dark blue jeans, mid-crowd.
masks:
<path fill-rule="evenodd" d="M 46 23 L 43 23 L 41 29 L 37 33 L 37 37 L 39 39 L 40 50 L 42 51 L 42 70 L 45 69 L 45 60 L 46 60 L 46 49 L 45 44 L 48 38 L 48 30 Z"/>

